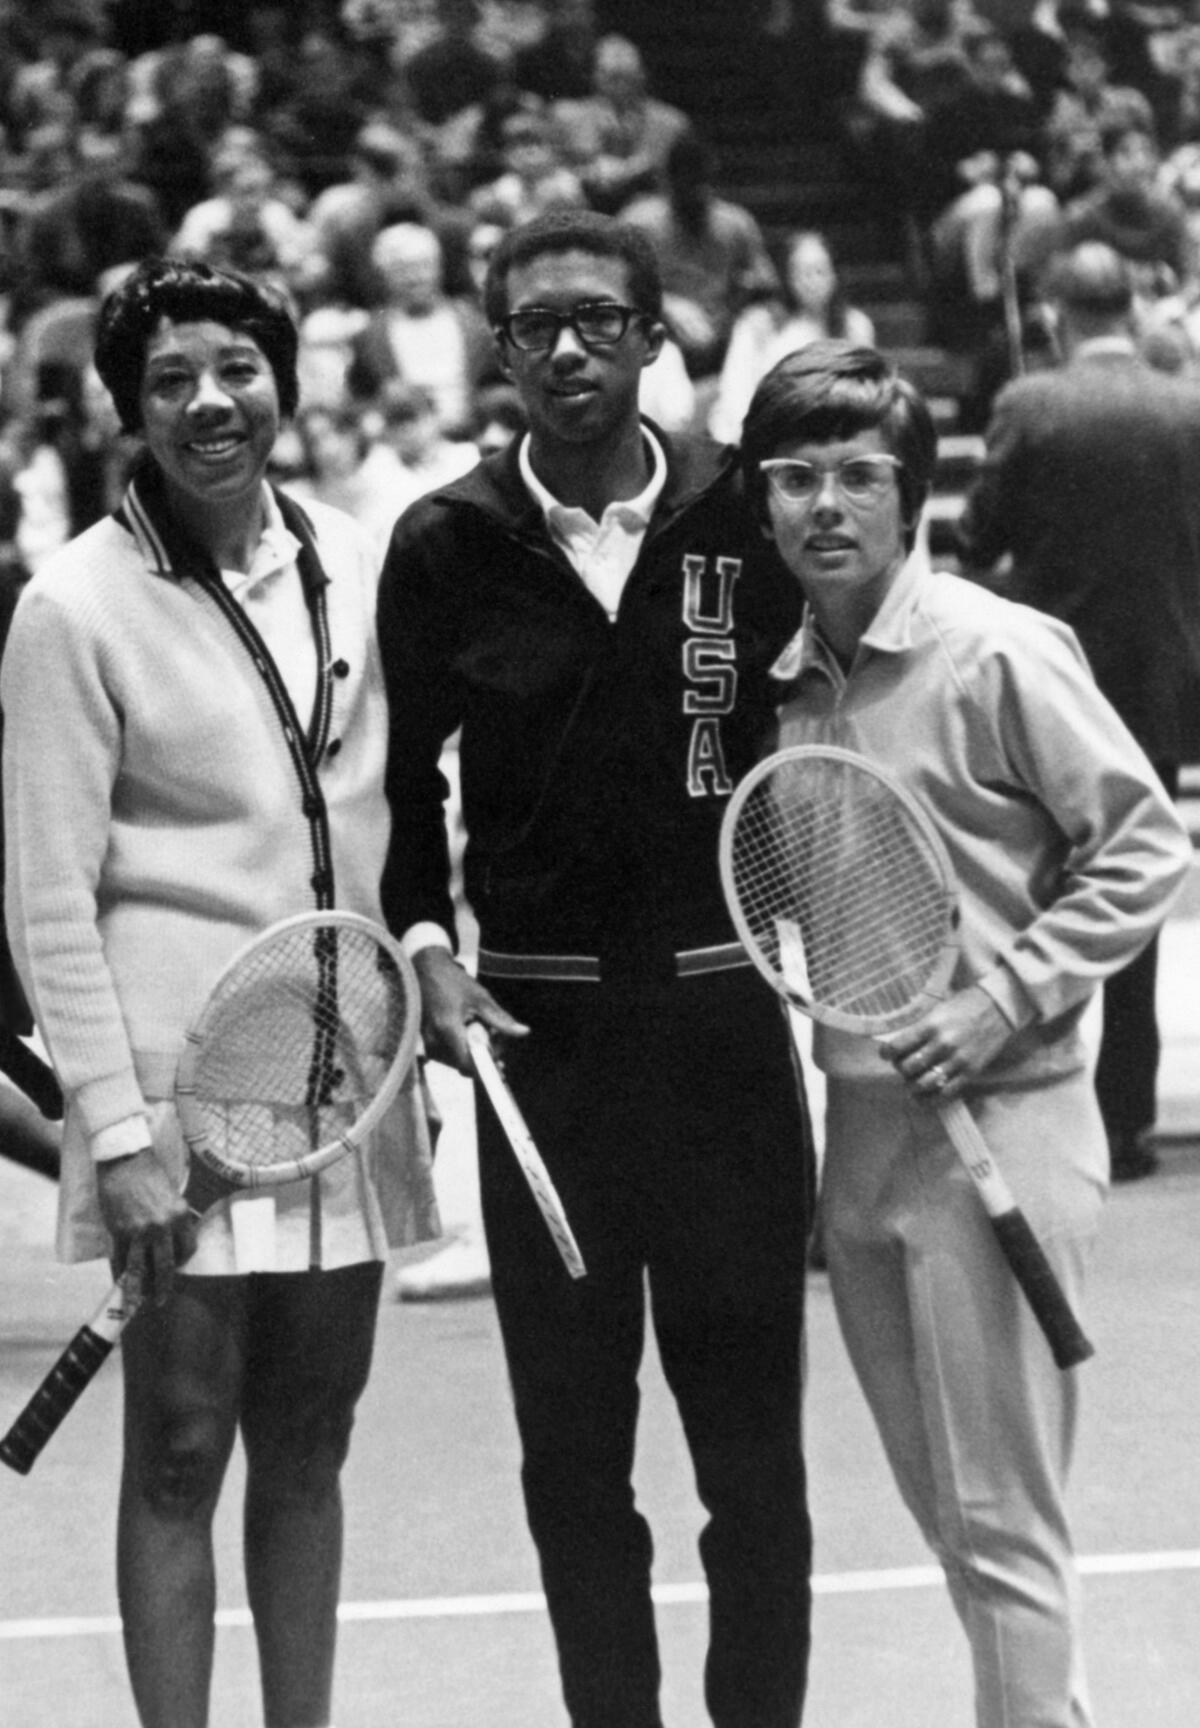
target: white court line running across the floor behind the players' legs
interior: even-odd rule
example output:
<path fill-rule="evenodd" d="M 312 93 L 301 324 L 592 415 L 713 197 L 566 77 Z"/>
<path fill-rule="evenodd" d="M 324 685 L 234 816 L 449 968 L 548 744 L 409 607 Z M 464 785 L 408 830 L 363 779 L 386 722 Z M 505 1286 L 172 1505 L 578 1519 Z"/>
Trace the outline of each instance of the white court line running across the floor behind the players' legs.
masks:
<path fill-rule="evenodd" d="M 1167 1550 L 1164 1553 L 1093 1553 L 1082 1555 L 1079 1571 L 1086 1578 L 1114 1578 L 1136 1572 L 1198 1572 L 1200 1548 Z M 930 1590 L 942 1586 L 939 1566 L 896 1566 L 875 1572 L 823 1572 L 813 1579 L 818 1597 L 870 1595 L 885 1590 Z M 707 1602 L 705 1585 L 655 1585 L 654 1600 L 659 1607 L 676 1607 L 690 1602 Z M 498 1614 L 543 1614 L 546 1598 L 536 1591 L 514 1591 L 495 1597 L 413 1597 L 399 1602 L 342 1602 L 341 1621 L 399 1621 L 399 1619 L 486 1619 Z M 249 1609 L 218 1609 L 218 1626 L 249 1626 Z M 62 1619 L 0 1621 L 0 1642 L 21 1638 L 95 1638 L 121 1631 L 116 1614 Z"/>

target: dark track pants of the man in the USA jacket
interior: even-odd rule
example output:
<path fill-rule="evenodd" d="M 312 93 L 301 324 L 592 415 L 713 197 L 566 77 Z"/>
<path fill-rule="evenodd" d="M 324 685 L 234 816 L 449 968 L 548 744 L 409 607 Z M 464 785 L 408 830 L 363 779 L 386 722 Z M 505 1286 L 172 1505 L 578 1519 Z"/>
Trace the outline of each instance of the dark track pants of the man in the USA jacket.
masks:
<path fill-rule="evenodd" d="M 482 1097 L 479 1151 L 526 1512 L 574 1728 L 659 1728 L 652 1541 L 631 1488 L 645 1293 L 709 1514 L 716 1728 L 795 1728 L 809 1647 L 801 1457 L 811 1135 L 750 971 L 495 985 L 507 1073 L 579 1239 L 572 1282 Z"/>

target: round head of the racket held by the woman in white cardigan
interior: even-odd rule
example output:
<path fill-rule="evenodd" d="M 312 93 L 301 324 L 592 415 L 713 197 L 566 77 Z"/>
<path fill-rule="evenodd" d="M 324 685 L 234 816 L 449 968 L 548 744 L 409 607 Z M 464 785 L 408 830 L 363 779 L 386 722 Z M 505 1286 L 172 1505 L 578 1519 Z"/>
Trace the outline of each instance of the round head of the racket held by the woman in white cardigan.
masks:
<path fill-rule="evenodd" d="M 365 1142 L 418 1037 L 417 975 L 380 924 L 280 919 L 233 956 L 188 1028 L 175 1085 L 188 1151 L 242 1189 L 315 1175 Z"/>

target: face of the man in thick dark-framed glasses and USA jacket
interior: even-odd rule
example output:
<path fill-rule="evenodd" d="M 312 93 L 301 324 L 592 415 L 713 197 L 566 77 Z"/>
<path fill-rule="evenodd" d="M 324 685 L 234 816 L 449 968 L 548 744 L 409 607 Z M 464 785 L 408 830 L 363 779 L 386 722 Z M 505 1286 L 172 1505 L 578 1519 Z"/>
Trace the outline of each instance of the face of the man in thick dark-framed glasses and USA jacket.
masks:
<path fill-rule="evenodd" d="M 631 306 L 624 259 L 545 252 L 508 271 L 508 311 L 569 313 L 597 302 Z M 588 347 L 562 325 L 546 349 L 501 340 L 501 359 L 520 392 L 534 444 L 593 444 L 638 416 L 641 370 L 662 347 L 662 325 L 633 318 L 619 342 Z"/>

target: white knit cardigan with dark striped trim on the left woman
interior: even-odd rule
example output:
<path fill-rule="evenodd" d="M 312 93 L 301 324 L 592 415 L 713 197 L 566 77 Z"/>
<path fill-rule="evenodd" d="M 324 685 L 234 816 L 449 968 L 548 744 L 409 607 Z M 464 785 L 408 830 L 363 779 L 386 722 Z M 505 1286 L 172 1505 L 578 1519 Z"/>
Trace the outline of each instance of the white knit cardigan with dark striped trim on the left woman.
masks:
<path fill-rule="evenodd" d="M 310 520 L 335 670 L 316 764 L 335 904 L 379 918 L 377 560 L 341 511 L 313 505 Z M 26 588 L 0 702 L 7 921 L 67 1096 L 59 1249 L 86 1258 L 107 1251 L 86 1139 L 138 1111 L 161 1120 L 147 1106 L 169 1096 L 216 973 L 266 924 L 318 904 L 313 826 L 247 646 L 202 582 L 156 567 L 154 543 L 112 517 Z M 391 1241 L 412 1234 L 434 1232 L 389 1220 Z"/>

